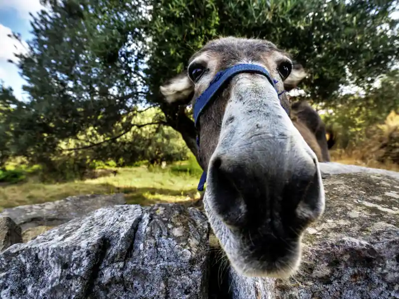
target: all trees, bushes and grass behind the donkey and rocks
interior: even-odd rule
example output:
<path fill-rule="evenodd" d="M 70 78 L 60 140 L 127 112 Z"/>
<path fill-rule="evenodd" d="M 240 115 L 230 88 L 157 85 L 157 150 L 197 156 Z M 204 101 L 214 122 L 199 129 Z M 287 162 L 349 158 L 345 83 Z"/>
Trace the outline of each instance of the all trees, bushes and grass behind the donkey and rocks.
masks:
<path fill-rule="evenodd" d="M 141 202 L 140 184 L 153 197 L 162 183 L 173 185 L 165 198 L 199 196 L 194 123 L 159 86 L 220 35 L 266 38 L 294 55 L 309 75 L 292 100 L 305 98 L 334 128 L 334 159 L 398 169 L 397 0 L 42 3 L 28 54 L 10 61 L 28 100 L 0 83 L 1 206 L 115 190 Z"/>

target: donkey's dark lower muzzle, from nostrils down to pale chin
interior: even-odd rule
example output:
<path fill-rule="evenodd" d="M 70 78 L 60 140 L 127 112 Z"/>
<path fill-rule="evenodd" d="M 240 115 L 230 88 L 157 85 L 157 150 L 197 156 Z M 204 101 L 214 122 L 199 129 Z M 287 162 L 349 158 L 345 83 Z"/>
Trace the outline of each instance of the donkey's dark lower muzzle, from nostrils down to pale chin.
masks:
<path fill-rule="evenodd" d="M 317 218 L 303 200 L 318 198 L 318 188 L 310 186 L 318 185 L 316 167 L 283 184 L 248 171 L 245 163 L 223 170 L 220 158 L 214 161 L 204 207 L 233 268 L 245 276 L 291 275 L 300 263 L 303 230 Z"/>

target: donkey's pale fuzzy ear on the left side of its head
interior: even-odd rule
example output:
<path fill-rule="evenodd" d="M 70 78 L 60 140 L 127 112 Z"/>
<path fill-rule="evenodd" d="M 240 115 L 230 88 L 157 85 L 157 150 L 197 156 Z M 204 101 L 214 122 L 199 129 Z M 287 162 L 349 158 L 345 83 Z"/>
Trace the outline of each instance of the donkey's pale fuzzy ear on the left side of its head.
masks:
<path fill-rule="evenodd" d="M 169 104 L 189 104 L 192 98 L 191 95 L 194 92 L 194 84 L 187 72 L 183 72 L 167 80 L 160 87 L 160 91 L 164 95 L 165 101 Z"/>

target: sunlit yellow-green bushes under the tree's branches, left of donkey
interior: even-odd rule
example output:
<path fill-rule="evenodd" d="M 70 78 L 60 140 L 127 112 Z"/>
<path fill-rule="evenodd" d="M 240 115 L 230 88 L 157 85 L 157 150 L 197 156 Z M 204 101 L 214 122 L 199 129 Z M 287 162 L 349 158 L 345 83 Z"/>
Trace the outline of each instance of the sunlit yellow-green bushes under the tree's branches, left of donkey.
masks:
<path fill-rule="evenodd" d="M 157 115 L 156 109 L 147 110 L 133 118 L 136 124 L 148 124 Z M 83 179 L 100 167 L 137 166 L 141 161 L 160 164 L 162 161 L 185 160 L 188 149 L 179 134 L 164 125 L 148 125 L 134 128 L 112 142 L 89 129 L 86 136 L 91 140 L 68 139 L 59 144 L 57 153 L 41 157 L 36 163 L 43 165 L 41 179 L 62 181 Z M 91 147 L 93 143 L 101 143 Z M 86 147 L 90 147 L 85 149 Z M 76 148 L 82 148 L 75 150 Z"/>

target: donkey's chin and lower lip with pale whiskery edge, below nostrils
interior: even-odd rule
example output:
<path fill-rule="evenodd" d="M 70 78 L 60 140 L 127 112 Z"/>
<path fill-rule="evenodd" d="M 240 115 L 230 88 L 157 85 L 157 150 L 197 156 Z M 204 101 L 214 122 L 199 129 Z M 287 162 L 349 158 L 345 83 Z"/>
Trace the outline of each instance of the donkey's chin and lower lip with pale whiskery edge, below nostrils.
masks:
<path fill-rule="evenodd" d="M 246 277 L 288 278 L 294 275 L 301 263 L 301 239 L 279 240 L 271 249 L 268 241 L 271 238 L 262 234 L 244 233 L 225 224 L 209 205 L 209 197 L 203 198 L 205 214 L 210 226 L 219 240 L 230 266 L 238 275 Z M 275 241 L 275 237 L 272 239 Z M 274 243 L 273 241 L 270 244 Z M 270 252 L 282 253 L 272 256 Z"/>

